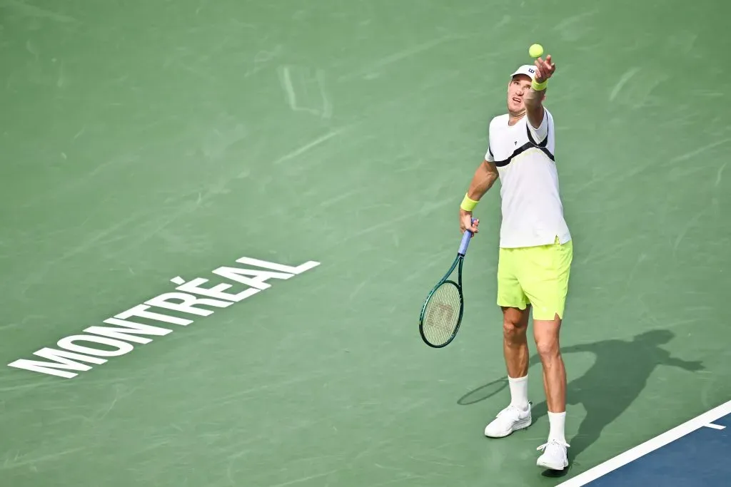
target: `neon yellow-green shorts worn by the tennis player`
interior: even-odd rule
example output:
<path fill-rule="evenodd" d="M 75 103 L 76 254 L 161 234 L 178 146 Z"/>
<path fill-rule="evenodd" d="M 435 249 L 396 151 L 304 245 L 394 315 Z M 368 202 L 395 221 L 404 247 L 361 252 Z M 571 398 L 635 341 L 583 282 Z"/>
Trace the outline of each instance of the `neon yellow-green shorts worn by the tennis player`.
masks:
<path fill-rule="evenodd" d="M 573 259 L 571 240 L 564 244 L 501 248 L 498 258 L 498 305 L 525 310 L 533 307 L 534 320 L 564 318 L 569 273 Z"/>

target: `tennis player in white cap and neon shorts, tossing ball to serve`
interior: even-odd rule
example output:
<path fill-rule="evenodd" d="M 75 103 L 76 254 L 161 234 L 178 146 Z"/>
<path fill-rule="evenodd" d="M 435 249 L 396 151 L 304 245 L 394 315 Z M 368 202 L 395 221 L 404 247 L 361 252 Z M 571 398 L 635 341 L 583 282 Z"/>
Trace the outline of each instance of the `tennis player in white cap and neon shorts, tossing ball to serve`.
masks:
<path fill-rule="evenodd" d="M 500 179 L 502 222 L 498 258 L 497 304 L 503 312 L 503 350 L 510 383 L 510 405 L 485 428 L 493 438 L 531 424 L 528 400 L 528 328 L 543 369 L 550 431 L 540 445 L 537 465 L 568 467 L 564 435 L 566 370 L 558 344 L 572 262 L 571 234 L 564 220 L 554 160 L 556 131 L 543 107 L 546 86 L 556 71 L 548 55 L 512 74 L 507 86 L 507 113 L 493 118 L 488 152 L 477 167 L 460 207 L 460 228 L 477 233 L 471 221 L 480 198 Z"/>

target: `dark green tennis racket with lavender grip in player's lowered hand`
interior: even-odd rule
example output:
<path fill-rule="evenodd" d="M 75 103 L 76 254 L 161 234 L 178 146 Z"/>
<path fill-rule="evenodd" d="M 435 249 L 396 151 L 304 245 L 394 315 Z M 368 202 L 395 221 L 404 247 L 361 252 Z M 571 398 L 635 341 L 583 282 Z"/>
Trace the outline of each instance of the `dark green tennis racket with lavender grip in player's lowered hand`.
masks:
<path fill-rule="evenodd" d="M 475 219 L 472 218 L 472 223 Z M 467 246 L 472 232 L 465 230 L 462 235 L 457 257 L 447 274 L 429 291 L 421 307 L 419 316 L 419 333 L 422 340 L 433 348 L 442 348 L 454 340 L 457 335 L 464 312 L 464 296 L 462 294 L 462 263 L 467 253 Z M 458 269 L 457 282 L 450 280 L 450 275 Z"/>

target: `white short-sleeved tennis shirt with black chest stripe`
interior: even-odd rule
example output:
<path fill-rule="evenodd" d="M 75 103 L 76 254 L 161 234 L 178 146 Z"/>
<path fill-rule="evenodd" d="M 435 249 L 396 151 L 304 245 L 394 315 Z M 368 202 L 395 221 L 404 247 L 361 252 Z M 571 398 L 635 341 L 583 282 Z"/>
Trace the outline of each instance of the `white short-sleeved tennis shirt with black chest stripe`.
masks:
<path fill-rule="evenodd" d="M 558 191 L 558 171 L 553 160 L 556 141 L 553 116 L 545 110 L 534 129 L 523 116 L 514 126 L 509 115 L 490 122 L 488 152 L 500 176 L 502 223 L 500 247 L 534 247 L 571 239 Z"/>

